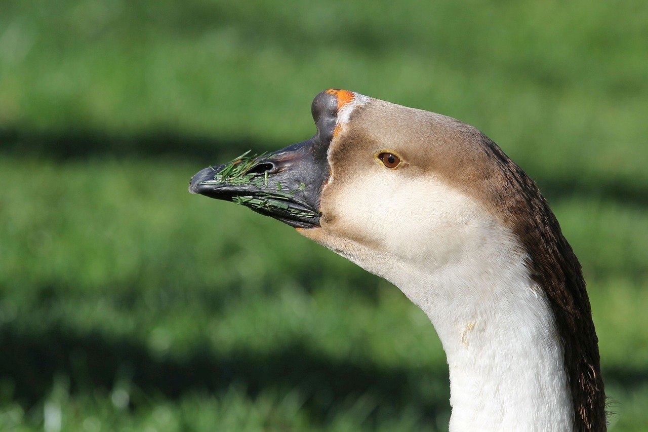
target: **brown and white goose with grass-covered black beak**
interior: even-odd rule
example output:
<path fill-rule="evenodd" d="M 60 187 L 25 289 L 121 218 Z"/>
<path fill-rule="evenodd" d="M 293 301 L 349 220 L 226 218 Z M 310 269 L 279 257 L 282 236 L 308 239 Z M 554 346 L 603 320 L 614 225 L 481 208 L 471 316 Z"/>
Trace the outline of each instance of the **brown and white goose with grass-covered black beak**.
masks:
<path fill-rule="evenodd" d="M 451 431 L 604 431 L 581 265 L 535 183 L 461 121 L 330 89 L 315 136 L 191 178 L 189 191 L 296 228 L 430 318 Z"/>

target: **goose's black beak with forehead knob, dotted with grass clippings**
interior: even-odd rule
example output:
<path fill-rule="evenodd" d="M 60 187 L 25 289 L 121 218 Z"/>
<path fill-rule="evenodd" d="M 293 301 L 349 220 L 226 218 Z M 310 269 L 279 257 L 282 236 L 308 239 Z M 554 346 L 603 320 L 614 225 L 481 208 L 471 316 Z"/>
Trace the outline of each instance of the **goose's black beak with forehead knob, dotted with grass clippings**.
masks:
<path fill-rule="evenodd" d="M 191 178 L 189 192 L 242 204 L 295 228 L 319 226 L 319 198 L 330 176 L 327 150 L 338 116 L 336 93 L 319 93 L 311 112 L 317 126 L 313 138 L 205 168 Z"/>

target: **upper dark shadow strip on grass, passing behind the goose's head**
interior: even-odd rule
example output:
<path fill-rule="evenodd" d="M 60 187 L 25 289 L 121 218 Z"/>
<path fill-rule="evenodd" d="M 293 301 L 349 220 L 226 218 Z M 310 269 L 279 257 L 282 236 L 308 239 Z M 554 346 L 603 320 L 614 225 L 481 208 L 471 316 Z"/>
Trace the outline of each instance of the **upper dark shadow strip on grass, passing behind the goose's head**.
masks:
<path fill-rule="evenodd" d="M 296 141 L 295 141 L 296 142 Z M 91 156 L 115 158 L 172 157 L 198 165 L 218 163 L 246 150 L 277 150 L 293 142 L 259 142 L 241 137 L 218 139 L 158 131 L 135 136 L 111 135 L 93 130 L 68 130 L 40 134 L 17 128 L 0 128 L 0 149 L 14 154 L 30 154 L 54 160 Z M 535 170 L 539 171 L 539 170 Z M 586 178 L 586 181 L 583 179 Z M 534 176 L 538 187 L 550 201 L 575 196 L 594 197 L 621 204 L 648 206 L 648 188 L 624 178 L 586 176 L 575 168 L 560 178 Z"/>

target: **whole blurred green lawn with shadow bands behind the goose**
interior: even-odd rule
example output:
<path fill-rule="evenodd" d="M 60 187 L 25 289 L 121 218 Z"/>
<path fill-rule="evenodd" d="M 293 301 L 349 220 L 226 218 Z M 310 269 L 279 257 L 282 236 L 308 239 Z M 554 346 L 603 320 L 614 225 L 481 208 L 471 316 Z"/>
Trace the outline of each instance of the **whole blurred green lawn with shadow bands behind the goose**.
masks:
<path fill-rule="evenodd" d="M 583 264 L 610 429 L 648 428 L 644 1 L 4 0 L 0 429 L 444 430 L 393 286 L 187 193 L 326 88 L 477 126 Z"/>

